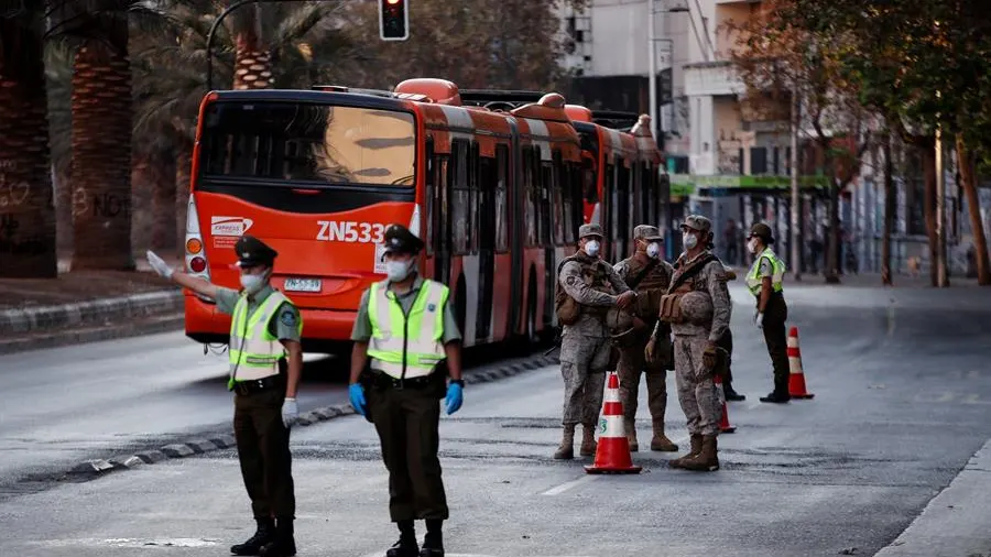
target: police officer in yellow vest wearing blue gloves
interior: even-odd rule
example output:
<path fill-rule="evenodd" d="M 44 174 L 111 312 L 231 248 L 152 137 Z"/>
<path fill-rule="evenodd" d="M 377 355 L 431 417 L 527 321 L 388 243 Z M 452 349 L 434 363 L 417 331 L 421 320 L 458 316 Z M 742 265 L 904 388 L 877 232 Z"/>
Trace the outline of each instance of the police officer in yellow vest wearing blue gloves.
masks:
<path fill-rule="evenodd" d="M 349 394 L 355 411 L 374 423 L 389 469 L 389 514 L 400 539 L 386 557 L 443 557 L 448 510 L 437 458 L 438 400 L 446 393 L 448 414 L 461 406 L 461 336 L 450 291 L 416 272 L 423 241 L 401 225 L 390 225 L 384 240 L 388 278 L 361 296 L 351 331 Z M 422 549 L 417 518 L 426 521 Z"/>

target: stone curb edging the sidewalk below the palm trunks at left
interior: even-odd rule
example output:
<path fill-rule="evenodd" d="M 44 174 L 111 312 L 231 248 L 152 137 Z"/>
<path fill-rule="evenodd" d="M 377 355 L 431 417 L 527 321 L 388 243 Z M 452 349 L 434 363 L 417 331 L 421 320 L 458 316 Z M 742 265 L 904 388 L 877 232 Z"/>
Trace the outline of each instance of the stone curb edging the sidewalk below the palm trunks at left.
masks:
<path fill-rule="evenodd" d="M 113 320 L 183 312 L 184 304 L 181 290 L 168 290 L 77 304 L 4 309 L 0 312 L 0 335 L 11 336 L 56 328 L 99 326 Z"/>

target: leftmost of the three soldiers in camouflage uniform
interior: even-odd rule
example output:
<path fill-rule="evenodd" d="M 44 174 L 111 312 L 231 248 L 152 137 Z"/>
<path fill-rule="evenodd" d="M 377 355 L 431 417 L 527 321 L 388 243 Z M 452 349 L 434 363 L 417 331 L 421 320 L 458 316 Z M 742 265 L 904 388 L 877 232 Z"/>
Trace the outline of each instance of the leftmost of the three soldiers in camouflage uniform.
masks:
<path fill-rule="evenodd" d="M 607 316 L 632 304 L 636 294 L 612 265 L 599 259 L 602 227 L 578 229 L 578 252 L 557 270 L 557 317 L 563 325 L 560 373 L 565 380 L 564 433 L 556 459 L 575 458 L 575 426 L 581 424 L 581 456 L 596 454 L 596 424 L 602 406 L 606 370 L 612 345 Z"/>

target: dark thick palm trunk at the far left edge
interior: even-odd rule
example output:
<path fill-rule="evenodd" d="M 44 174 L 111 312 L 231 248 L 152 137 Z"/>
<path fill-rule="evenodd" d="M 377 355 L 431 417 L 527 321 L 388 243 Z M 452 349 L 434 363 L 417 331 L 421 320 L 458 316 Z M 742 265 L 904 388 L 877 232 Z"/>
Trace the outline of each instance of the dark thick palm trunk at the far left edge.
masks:
<path fill-rule="evenodd" d="M 55 277 L 55 206 L 40 29 L 0 19 L 0 276 Z"/>

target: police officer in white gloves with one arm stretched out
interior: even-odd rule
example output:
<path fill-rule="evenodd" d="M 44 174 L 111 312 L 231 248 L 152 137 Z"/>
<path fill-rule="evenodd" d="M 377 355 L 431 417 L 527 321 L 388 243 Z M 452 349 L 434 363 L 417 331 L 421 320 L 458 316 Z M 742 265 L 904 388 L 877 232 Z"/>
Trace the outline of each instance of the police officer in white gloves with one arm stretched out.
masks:
<path fill-rule="evenodd" d="M 250 236 L 241 237 L 235 251 L 241 291 L 174 272 L 151 251 L 148 261 L 160 275 L 213 298 L 218 312 L 232 316 L 227 385 L 237 393 L 233 428 L 238 459 L 258 529 L 230 551 L 288 557 L 296 555 L 296 500 L 288 444 L 290 428 L 298 414 L 303 319 L 293 302 L 269 284 L 279 253 Z"/>

